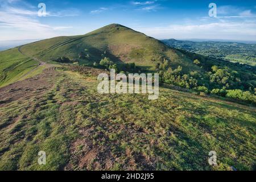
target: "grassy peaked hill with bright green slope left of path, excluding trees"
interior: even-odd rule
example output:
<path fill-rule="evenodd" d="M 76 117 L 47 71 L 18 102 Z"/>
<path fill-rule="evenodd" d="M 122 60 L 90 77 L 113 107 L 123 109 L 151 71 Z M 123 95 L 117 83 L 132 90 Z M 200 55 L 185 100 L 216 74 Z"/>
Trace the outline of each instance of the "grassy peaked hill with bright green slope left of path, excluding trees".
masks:
<path fill-rule="evenodd" d="M 181 65 L 184 71 L 200 70 L 188 56 L 159 40 L 120 24 L 110 24 L 85 35 L 60 36 L 0 52 L 0 86 L 11 84 L 35 69 L 38 61 L 31 57 L 54 64 L 53 60 L 63 56 L 89 66 L 109 57 L 114 63 L 135 63 L 151 71 L 164 60 L 173 68 Z"/>

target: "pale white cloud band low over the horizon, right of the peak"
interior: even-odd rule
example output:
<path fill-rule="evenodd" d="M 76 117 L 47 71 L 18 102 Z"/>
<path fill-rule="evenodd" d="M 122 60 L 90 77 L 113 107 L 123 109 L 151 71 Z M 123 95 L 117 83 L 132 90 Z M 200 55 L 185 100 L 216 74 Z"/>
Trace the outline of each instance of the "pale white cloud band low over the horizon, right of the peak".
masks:
<path fill-rule="evenodd" d="M 255 40 L 256 22 L 217 22 L 172 24 L 166 27 L 138 27 L 138 31 L 158 39 L 230 39 Z"/>

